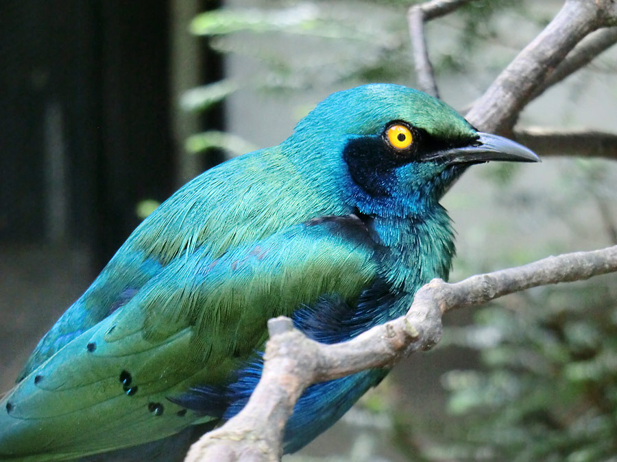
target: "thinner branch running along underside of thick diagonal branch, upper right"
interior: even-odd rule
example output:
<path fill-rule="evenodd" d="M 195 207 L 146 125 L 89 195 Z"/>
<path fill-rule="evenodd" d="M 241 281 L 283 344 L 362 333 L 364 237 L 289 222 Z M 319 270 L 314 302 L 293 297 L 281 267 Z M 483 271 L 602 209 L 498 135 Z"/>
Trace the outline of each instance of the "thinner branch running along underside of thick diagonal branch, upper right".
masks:
<path fill-rule="evenodd" d="M 544 93 L 547 88 L 559 83 L 570 74 L 587 66 L 599 54 L 603 53 L 617 43 L 617 27 L 606 27 L 592 32 L 588 37 L 581 40 L 574 49 L 566 56 L 566 59 L 548 74 L 542 85 L 537 87 L 531 96 L 535 99 Z"/>

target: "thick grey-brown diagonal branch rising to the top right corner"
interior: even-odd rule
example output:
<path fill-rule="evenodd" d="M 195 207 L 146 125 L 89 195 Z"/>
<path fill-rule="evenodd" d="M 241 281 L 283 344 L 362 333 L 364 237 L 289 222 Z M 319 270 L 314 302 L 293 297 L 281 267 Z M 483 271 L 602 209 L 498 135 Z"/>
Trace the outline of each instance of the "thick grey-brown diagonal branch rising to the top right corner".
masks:
<path fill-rule="evenodd" d="M 553 21 L 503 70 L 468 112 L 467 120 L 488 132 L 508 132 L 533 92 L 590 32 L 614 25 L 617 2 L 566 0 Z"/>

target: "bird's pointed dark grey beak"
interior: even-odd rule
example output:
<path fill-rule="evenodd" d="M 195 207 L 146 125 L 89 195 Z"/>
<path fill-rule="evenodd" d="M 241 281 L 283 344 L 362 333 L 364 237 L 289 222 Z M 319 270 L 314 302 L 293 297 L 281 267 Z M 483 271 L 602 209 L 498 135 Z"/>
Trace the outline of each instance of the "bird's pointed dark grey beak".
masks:
<path fill-rule="evenodd" d="M 541 162 L 540 157 L 522 144 L 503 138 L 503 136 L 481 131 L 478 132 L 478 138 L 472 144 L 438 151 L 424 160 L 446 164 L 481 164 L 489 160 Z"/>

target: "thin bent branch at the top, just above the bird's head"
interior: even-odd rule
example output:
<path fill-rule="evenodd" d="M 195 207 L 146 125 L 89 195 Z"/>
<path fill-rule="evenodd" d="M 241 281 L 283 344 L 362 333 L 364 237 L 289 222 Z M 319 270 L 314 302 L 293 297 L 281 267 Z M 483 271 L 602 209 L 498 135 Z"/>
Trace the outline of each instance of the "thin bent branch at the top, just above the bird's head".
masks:
<path fill-rule="evenodd" d="M 433 65 L 428 57 L 424 23 L 444 16 L 469 2 L 470 0 L 432 0 L 414 5 L 407 12 L 407 24 L 413 47 L 415 73 L 418 75 L 418 87 L 435 98 L 439 98 L 439 90 L 437 90 Z"/>

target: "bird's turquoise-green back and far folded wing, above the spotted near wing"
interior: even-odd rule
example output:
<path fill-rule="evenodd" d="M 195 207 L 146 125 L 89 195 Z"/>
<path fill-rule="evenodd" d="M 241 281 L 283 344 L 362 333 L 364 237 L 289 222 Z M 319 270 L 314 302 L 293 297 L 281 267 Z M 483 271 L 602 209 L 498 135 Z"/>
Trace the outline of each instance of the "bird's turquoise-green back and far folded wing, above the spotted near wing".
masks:
<path fill-rule="evenodd" d="M 88 290 L 40 340 L 19 380 L 129 303 L 176 260 L 184 261 L 195 252 L 219 257 L 326 213 L 345 211 L 324 203 L 278 146 L 207 170 L 137 227 Z"/>

